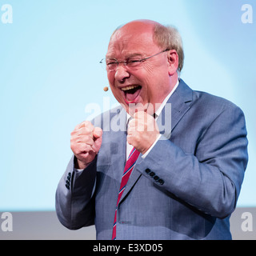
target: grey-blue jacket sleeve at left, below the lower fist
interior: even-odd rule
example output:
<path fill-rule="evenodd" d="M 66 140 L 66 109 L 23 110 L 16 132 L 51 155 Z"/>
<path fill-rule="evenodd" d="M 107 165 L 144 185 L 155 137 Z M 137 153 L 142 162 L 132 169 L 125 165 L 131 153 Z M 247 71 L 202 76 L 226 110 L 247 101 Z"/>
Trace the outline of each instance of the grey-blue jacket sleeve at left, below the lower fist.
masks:
<path fill-rule="evenodd" d="M 55 195 L 59 221 L 70 230 L 94 225 L 96 159 L 85 170 L 74 170 L 74 156 L 63 174 Z"/>

